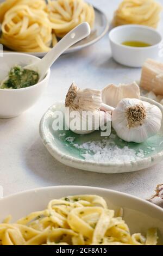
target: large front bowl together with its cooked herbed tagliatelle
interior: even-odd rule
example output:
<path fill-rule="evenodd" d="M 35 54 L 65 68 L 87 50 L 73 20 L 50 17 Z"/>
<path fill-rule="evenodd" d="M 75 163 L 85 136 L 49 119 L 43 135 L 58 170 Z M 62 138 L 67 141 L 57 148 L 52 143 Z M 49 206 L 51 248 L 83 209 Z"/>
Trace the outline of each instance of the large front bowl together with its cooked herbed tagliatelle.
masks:
<path fill-rule="evenodd" d="M 163 210 L 117 191 L 45 187 L 2 198 L 0 209 L 1 245 L 163 245 Z"/>

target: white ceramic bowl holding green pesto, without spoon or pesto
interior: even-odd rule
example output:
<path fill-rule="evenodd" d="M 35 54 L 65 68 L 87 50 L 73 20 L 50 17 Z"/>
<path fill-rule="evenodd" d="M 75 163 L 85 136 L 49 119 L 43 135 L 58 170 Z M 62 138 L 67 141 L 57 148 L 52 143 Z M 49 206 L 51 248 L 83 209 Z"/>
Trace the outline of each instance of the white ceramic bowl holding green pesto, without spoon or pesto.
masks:
<path fill-rule="evenodd" d="M 4 53 L 0 57 L 0 81 L 7 77 L 12 66 L 26 66 L 37 62 L 39 58 L 24 53 Z M 0 118 L 11 118 L 22 114 L 39 100 L 45 91 L 51 71 L 34 86 L 22 89 L 0 89 Z"/>

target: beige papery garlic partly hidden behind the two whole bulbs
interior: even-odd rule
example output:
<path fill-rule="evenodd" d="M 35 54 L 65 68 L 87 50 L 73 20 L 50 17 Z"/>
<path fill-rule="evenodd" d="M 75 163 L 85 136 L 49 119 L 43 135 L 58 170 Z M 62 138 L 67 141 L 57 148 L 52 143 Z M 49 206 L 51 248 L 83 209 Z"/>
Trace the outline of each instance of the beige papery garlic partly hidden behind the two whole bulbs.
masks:
<path fill-rule="evenodd" d="M 136 82 L 129 84 L 109 84 L 102 90 L 103 103 L 116 107 L 125 98 L 140 99 L 140 88 Z"/>

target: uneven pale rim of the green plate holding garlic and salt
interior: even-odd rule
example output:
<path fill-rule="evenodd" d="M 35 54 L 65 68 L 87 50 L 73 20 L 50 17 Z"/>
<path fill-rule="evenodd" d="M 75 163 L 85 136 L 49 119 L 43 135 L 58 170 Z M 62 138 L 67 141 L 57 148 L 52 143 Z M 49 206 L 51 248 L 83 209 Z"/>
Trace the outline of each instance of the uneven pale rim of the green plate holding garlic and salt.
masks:
<path fill-rule="evenodd" d="M 150 102 L 151 104 L 158 106 L 161 109 L 161 111 L 163 111 L 163 106 L 160 103 L 158 103 L 158 102 L 156 102 L 154 100 L 148 99 L 146 97 L 141 97 L 141 100 L 142 101 Z M 57 102 L 57 103 L 62 103 L 62 102 Z M 56 105 L 56 103 L 54 105 Z M 159 153 L 154 154 L 151 157 L 146 157 L 145 159 L 142 159 L 142 160 L 137 160 L 137 161 L 132 161 L 132 162 L 124 162 L 124 163 L 114 163 L 114 164 L 109 163 L 109 162 L 106 162 L 106 163 L 103 163 L 103 162 L 91 162 L 91 161 L 86 161 L 86 160 L 82 160 L 82 159 L 77 159 L 76 157 L 73 157 L 73 156 L 67 156 L 66 154 L 62 153 L 58 149 L 58 147 L 54 146 L 49 141 L 49 139 L 47 139 L 47 137 L 46 137 L 46 132 L 45 132 L 45 129 L 44 129 L 44 123 L 45 123 L 47 114 L 49 112 L 51 112 L 51 109 L 53 108 L 54 105 L 52 105 L 51 107 L 48 108 L 48 110 L 43 115 L 43 117 L 42 117 L 42 119 L 40 121 L 40 137 L 42 139 L 43 144 L 45 145 L 45 147 L 49 151 L 49 153 L 51 153 L 55 157 L 55 159 L 57 159 L 61 163 L 64 163 L 64 164 L 66 164 L 66 165 L 68 165 L 70 167 L 79 168 L 79 169 L 83 169 L 82 167 L 84 167 L 84 166 L 95 167 L 93 170 L 89 169 L 89 171 L 90 172 L 100 173 L 98 170 L 96 170 L 96 167 L 98 166 L 98 167 L 102 168 L 101 169 L 101 173 L 108 173 L 109 174 L 109 173 L 134 172 L 134 171 L 136 171 L 135 169 L 133 169 L 134 163 L 137 163 L 137 166 L 139 166 L 139 165 L 142 166 L 142 168 L 137 168 L 137 170 L 140 170 L 140 169 L 146 168 L 146 166 L 149 167 L 149 166 L 153 165 L 153 164 L 149 165 L 149 162 L 157 163 L 160 158 L 163 158 L 163 150 L 160 151 Z M 152 159 L 154 159 L 154 160 L 152 161 Z M 131 164 L 131 163 L 133 163 L 133 164 Z M 76 167 L 75 164 L 78 167 Z M 103 169 L 103 167 L 105 167 L 105 168 L 108 167 L 109 169 L 121 167 L 121 171 L 118 171 L 118 172 L 110 172 L 110 171 L 108 171 L 108 172 L 106 172 L 106 170 Z M 127 170 L 124 171 L 124 169 L 127 169 Z M 128 169 L 130 169 L 130 170 L 128 170 Z"/>

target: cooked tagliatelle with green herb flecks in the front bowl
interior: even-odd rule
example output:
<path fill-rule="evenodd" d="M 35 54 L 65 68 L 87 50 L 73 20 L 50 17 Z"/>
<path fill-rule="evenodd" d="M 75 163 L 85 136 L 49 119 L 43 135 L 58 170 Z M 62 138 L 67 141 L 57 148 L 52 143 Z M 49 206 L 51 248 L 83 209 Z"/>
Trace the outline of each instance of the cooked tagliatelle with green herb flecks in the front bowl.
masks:
<path fill-rule="evenodd" d="M 0 224 L 0 245 L 156 245 L 156 229 L 147 236 L 130 234 L 99 196 L 80 195 L 49 202 L 16 223 Z"/>

